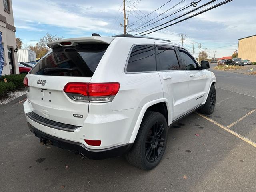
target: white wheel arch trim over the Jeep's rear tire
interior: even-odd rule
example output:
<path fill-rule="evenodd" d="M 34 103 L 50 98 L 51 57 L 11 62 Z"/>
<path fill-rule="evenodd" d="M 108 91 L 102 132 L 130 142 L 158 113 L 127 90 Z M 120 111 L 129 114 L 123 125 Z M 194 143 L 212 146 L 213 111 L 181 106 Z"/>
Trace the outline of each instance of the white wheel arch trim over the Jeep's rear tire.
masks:
<path fill-rule="evenodd" d="M 161 105 L 165 105 L 164 106 L 165 109 L 161 109 L 161 108 L 159 109 L 159 107 Z M 170 108 L 168 100 L 166 98 L 161 98 L 161 99 L 150 101 L 150 102 L 146 103 L 142 107 L 142 109 L 140 110 L 140 114 L 139 114 L 138 119 L 136 121 L 136 124 L 134 126 L 134 130 L 133 130 L 132 135 L 130 137 L 129 143 L 134 142 L 134 140 L 137 136 L 138 130 L 140 128 L 140 124 L 141 124 L 142 119 L 144 117 L 144 114 L 146 113 L 147 110 L 160 112 L 162 114 L 164 113 L 163 115 L 165 116 L 165 118 L 167 118 L 167 125 L 170 125 L 171 117 L 172 117 L 172 114 L 171 114 L 172 109 Z M 161 110 L 162 110 L 162 112 L 161 112 Z M 163 112 L 163 111 L 165 111 L 165 112 Z"/>

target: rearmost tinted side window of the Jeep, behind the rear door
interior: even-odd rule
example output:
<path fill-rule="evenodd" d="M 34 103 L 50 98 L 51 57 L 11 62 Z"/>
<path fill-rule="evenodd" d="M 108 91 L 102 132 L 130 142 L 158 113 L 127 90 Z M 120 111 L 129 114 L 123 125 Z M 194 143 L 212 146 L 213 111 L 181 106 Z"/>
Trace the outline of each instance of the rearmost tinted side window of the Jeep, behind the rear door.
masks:
<path fill-rule="evenodd" d="M 128 60 L 127 72 L 156 71 L 154 45 L 136 45 Z"/>

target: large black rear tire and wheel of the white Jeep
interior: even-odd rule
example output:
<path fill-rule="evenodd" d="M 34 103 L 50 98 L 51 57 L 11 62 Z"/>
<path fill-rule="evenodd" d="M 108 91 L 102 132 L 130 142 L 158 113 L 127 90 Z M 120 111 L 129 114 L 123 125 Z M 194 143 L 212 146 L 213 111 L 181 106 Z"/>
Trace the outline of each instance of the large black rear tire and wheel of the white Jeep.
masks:
<path fill-rule="evenodd" d="M 146 111 L 126 160 L 142 170 L 156 167 L 164 155 L 167 134 L 166 118 L 161 113 Z"/>

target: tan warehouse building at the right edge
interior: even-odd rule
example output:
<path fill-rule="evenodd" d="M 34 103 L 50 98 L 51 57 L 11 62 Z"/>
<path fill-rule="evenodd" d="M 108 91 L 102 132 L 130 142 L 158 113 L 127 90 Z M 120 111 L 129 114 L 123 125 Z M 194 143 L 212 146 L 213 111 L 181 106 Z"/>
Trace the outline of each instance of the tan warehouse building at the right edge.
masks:
<path fill-rule="evenodd" d="M 237 57 L 256 62 L 256 35 L 244 37 L 238 40 Z"/>

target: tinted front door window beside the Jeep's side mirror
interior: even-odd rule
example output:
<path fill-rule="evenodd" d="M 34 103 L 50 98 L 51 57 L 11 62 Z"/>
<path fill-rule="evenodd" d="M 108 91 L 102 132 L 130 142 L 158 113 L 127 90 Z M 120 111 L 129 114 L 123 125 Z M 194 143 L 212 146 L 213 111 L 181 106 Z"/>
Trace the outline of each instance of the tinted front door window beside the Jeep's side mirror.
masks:
<path fill-rule="evenodd" d="M 181 70 L 197 69 L 196 61 L 186 50 L 179 48 L 179 53 L 180 53 L 180 69 Z"/>

